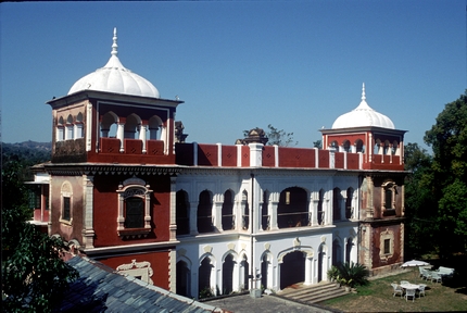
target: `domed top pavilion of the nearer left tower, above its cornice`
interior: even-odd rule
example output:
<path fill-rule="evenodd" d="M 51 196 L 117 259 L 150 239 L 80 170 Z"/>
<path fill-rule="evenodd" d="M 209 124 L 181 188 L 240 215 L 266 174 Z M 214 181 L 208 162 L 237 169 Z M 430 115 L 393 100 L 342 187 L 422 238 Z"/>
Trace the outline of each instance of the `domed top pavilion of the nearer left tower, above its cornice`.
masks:
<path fill-rule="evenodd" d="M 154 85 L 123 66 L 117 48 L 114 29 L 109 62 L 78 79 L 67 96 L 47 102 L 52 162 L 175 162 L 174 116 L 182 101 L 161 99 Z"/>

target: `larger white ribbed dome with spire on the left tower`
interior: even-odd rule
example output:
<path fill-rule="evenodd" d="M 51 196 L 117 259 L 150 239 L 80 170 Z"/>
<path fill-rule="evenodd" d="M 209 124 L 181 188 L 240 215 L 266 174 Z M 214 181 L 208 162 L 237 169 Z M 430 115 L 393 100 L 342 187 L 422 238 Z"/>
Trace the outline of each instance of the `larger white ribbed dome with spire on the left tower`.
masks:
<path fill-rule="evenodd" d="M 160 98 L 159 90 L 148 79 L 125 68 L 117 57 L 116 29 L 114 29 L 111 59 L 104 67 L 98 68 L 78 79 L 68 95 L 81 90 L 99 90 L 115 93 Z"/>

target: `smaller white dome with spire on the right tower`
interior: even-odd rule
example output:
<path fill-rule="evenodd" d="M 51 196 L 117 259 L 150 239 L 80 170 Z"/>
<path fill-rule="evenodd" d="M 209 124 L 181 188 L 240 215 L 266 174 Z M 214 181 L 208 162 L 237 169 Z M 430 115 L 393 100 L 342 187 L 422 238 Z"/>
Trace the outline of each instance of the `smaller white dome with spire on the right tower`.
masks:
<path fill-rule="evenodd" d="M 376 112 L 366 103 L 365 84 L 363 84 L 362 102 L 349 113 L 339 116 L 332 124 L 332 129 L 376 126 L 394 129 L 394 123 L 388 116 Z"/>

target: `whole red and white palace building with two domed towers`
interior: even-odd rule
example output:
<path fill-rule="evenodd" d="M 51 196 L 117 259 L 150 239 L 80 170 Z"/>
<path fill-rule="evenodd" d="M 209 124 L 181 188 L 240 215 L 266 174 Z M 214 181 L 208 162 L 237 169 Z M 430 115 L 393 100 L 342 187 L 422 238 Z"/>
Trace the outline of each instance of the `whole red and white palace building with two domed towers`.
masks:
<path fill-rule="evenodd" d="M 52 161 L 35 170 L 49 176 L 49 235 L 194 298 L 317 284 L 338 262 L 403 262 L 405 130 L 365 87 L 320 130 L 324 149 L 266 146 L 258 128 L 232 146 L 185 142 L 184 102 L 125 68 L 116 40 L 104 67 L 48 102 Z"/>

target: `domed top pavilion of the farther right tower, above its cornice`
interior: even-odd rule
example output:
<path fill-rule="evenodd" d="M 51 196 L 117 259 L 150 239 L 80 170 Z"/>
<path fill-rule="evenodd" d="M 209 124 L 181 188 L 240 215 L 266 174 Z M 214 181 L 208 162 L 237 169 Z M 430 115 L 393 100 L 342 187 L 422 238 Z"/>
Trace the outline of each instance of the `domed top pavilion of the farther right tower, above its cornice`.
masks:
<path fill-rule="evenodd" d="M 404 170 L 404 134 L 366 102 L 365 84 L 357 108 L 340 115 L 331 129 L 320 129 L 323 148 L 363 153 L 365 170 Z"/>

